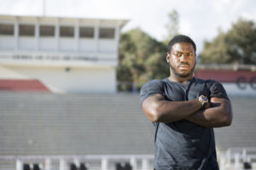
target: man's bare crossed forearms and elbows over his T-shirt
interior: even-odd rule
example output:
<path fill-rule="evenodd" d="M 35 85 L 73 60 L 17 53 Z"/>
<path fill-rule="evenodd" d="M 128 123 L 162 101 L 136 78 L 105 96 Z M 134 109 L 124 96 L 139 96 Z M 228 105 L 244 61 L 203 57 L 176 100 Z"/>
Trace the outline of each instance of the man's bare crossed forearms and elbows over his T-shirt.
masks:
<path fill-rule="evenodd" d="M 212 97 L 211 105 L 201 109 L 201 102 L 167 101 L 161 94 L 154 94 L 143 101 L 143 112 L 151 122 L 177 122 L 187 120 L 202 127 L 225 127 L 232 122 L 230 101 Z"/>

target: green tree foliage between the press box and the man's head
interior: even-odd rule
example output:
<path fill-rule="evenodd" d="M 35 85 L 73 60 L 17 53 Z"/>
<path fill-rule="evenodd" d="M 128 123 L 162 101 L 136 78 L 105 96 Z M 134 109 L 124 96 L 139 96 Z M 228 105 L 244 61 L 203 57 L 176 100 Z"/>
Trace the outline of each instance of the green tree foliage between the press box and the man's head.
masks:
<path fill-rule="evenodd" d="M 120 90 L 129 88 L 124 82 L 133 82 L 137 88 L 141 88 L 148 80 L 166 77 L 168 68 L 166 46 L 162 42 L 139 28 L 120 35 L 117 68 L 118 81 L 123 82 Z"/>

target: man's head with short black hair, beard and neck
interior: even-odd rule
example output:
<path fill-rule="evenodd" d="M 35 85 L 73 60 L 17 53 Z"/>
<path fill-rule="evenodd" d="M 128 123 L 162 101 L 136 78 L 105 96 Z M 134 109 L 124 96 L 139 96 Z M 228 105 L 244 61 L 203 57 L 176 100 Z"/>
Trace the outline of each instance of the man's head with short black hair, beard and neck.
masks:
<path fill-rule="evenodd" d="M 166 61 L 170 65 L 171 77 L 190 79 L 195 69 L 195 42 L 187 36 L 173 37 L 168 44 Z"/>

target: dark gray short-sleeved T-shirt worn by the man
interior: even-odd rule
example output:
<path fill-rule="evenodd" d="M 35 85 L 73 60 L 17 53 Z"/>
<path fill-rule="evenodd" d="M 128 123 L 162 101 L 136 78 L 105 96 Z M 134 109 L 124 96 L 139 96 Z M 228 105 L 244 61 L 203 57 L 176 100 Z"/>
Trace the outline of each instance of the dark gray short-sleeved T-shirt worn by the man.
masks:
<path fill-rule="evenodd" d="M 170 80 L 147 82 L 141 89 L 141 102 L 154 94 L 169 101 L 185 101 L 200 95 L 228 99 L 219 82 L 194 77 L 187 84 Z M 154 123 L 157 127 L 154 168 L 156 170 L 218 170 L 213 129 L 181 120 Z"/>

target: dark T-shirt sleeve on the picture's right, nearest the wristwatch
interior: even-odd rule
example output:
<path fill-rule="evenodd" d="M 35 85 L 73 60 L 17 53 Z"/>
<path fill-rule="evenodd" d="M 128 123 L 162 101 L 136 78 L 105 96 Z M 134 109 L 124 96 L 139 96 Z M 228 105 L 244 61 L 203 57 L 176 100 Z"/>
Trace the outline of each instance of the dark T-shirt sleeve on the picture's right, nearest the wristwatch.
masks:
<path fill-rule="evenodd" d="M 218 98 L 224 98 L 224 99 L 229 99 L 223 85 L 219 82 L 216 81 L 210 81 L 208 83 L 208 86 L 210 86 L 210 97 L 218 97 Z"/>

